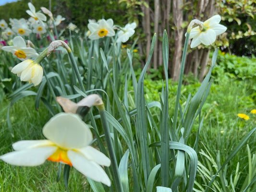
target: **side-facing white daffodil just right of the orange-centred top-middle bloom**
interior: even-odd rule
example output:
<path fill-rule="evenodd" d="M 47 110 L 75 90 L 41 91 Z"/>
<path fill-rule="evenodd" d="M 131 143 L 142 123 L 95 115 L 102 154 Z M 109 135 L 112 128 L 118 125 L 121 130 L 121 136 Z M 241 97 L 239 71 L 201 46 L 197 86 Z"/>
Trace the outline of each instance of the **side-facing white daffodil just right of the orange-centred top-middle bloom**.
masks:
<path fill-rule="evenodd" d="M 135 27 L 136 27 L 136 23 L 135 22 L 131 23 L 131 24 L 126 24 L 123 28 L 120 29 L 119 32 L 117 32 L 118 38 L 117 38 L 116 42 L 123 42 L 124 43 L 124 42 L 128 41 L 128 39 L 132 35 L 134 35 Z"/>

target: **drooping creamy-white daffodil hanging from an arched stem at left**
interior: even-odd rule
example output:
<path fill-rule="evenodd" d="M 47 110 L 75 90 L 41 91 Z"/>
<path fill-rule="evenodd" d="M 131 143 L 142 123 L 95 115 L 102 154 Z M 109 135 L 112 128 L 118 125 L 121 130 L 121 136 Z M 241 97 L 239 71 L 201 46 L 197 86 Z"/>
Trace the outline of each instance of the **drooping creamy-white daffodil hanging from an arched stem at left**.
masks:
<path fill-rule="evenodd" d="M 43 78 L 43 68 L 34 60 L 24 60 L 12 68 L 12 73 L 17 74 L 21 81 L 28 81 L 35 86 L 40 84 Z"/>

